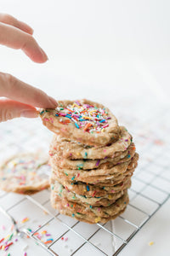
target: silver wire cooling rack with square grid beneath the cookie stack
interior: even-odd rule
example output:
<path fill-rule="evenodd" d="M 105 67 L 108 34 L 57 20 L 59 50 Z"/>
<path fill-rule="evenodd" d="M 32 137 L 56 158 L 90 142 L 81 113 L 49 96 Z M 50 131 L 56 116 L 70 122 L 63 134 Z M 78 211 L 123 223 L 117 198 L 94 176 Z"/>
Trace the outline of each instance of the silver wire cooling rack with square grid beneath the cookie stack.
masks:
<path fill-rule="evenodd" d="M 0 192 L 0 212 L 16 225 L 20 237 L 31 237 L 45 250 L 45 255 L 117 255 L 170 197 L 170 124 L 167 109 L 159 108 L 155 113 L 151 112 L 147 119 L 145 116 L 142 118 L 141 113 L 139 119 L 141 108 L 138 109 L 137 103 L 136 112 L 133 111 L 130 116 L 122 114 L 122 108 L 117 108 L 117 105 L 114 109 L 123 125 L 133 131 L 140 155 L 139 167 L 129 189 L 130 203 L 121 216 L 107 224 L 85 224 L 52 209 L 48 189 L 36 195 Z M 51 133 L 42 127 L 40 120 L 12 120 L 2 124 L 0 131 L 3 153 L 0 160 L 19 151 L 41 149 L 48 153 Z M 26 217 L 29 220 L 20 223 L 20 219 Z M 44 230 L 48 230 L 50 237 L 53 237 L 50 243 L 39 235 Z"/>

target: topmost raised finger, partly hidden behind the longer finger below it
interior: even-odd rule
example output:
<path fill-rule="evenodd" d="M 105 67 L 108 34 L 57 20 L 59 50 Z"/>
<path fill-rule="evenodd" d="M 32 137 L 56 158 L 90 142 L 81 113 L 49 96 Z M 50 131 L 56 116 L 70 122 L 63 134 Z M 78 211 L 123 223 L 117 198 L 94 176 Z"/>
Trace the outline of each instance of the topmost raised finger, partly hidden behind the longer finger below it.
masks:
<path fill-rule="evenodd" d="M 11 15 L 0 14 L 0 22 L 3 22 L 10 26 L 15 26 L 15 27 L 19 28 L 20 30 L 22 30 L 26 33 L 29 33 L 31 35 L 33 34 L 33 29 L 31 28 L 31 26 L 28 26 L 25 22 L 15 19 Z"/>

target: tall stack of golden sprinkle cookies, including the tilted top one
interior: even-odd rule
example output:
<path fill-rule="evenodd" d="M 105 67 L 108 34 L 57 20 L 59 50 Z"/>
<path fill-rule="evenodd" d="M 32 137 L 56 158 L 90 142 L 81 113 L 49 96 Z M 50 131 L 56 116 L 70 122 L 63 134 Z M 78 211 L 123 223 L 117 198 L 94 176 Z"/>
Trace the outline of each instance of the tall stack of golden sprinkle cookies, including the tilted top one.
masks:
<path fill-rule="evenodd" d="M 108 108 L 88 100 L 59 102 L 40 115 L 54 131 L 49 151 L 52 206 L 90 224 L 124 212 L 139 159 L 127 129 Z"/>

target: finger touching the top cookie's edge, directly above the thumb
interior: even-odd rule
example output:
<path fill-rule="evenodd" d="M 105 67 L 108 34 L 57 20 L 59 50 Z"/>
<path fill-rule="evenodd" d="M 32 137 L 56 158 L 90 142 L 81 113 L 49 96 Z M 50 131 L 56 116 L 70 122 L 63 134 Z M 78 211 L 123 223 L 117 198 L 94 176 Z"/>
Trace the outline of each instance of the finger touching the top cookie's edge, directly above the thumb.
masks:
<path fill-rule="evenodd" d="M 7 73 L 0 73 L 0 96 L 38 108 L 56 108 L 58 106 L 54 98 L 48 96 L 42 90 Z"/>

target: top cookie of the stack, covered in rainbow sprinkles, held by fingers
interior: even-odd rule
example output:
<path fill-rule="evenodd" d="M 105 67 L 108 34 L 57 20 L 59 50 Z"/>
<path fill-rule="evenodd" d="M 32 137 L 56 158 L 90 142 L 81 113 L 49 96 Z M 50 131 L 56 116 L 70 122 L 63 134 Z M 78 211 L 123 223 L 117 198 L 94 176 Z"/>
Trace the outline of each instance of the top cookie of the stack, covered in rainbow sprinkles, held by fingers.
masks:
<path fill-rule="evenodd" d="M 54 133 L 93 146 L 104 146 L 118 138 L 116 117 L 105 106 L 86 99 L 58 103 L 59 107 L 40 112 L 43 125 Z"/>

